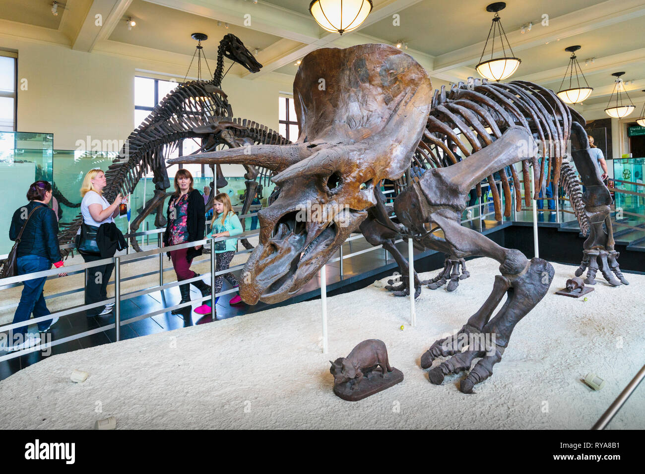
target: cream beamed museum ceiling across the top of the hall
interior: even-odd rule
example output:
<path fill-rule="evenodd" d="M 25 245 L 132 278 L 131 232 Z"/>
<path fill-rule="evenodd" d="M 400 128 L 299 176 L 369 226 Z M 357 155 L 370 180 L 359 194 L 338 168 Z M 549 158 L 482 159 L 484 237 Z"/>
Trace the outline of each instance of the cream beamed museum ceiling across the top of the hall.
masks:
<path fill-rule="evenodd" d="M 297 61 L 323 46 L 403 42 L 435 82 L 478 77 L 479 61 L 492 14 L 488 0 L 459 3 L 435 0 L 373 0 L 373 11 L 354 32 L 339 36 L 321 29 L 308 13 L 310 0 L 3 0 L 3 35 L 66 44 L 75 50 L 134 57 L 172 56 L 188 63 L 193 32 L 204 32 L 206 57 L 215 61 L 226 33 L 240 37 L 264 64 L 251 75 L 241 66 L 231 74 L 257 79 L 292 76 Z M 541 0 L 506 2 L 502 23 L 522 64 L 513 79 L 557 89 L 568 65 L 566 46 L 580 44 L 578 58 L 594 88 L 585 106 L 603 106 L 613 88 L 612 72 L 625 71 L 626 89 L 639 99 L 645 89 L 645 2 L 642 0 Z M 103 15 L 96 28 L 95 15 Z M 400 15 L 400 26 L 393 15 Z M 245 15 L 247 15 L 245 17 Z M 542 25 L 548 15 L 548 25 Z M 128 29 L 126 19 L 137 25 Z M 529 23 L 532 27 L 528 30 Z M 546 23 L 546 22 L 544 22 Z M 521 28 L 525 26 L 522 34 Z M 213 40 L 213 41 L 211 41 Z M 0 48 L 2 44 L 0 43 Z M 593 61 L 586 61 L 594 58 Z"/>

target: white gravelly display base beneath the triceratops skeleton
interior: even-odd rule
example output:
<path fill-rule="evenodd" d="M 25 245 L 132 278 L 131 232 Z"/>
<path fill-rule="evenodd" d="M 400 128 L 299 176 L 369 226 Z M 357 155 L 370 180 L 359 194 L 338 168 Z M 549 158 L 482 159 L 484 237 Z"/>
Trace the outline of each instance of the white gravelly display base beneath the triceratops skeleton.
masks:
<path fill-rule="evenodd" d="M 430 384 L 422 353 L 479 308 L 497 266 L 468 262 L 472 276 L 453 293 L 424 288 L 415 328 L 409 300 L 382 288 L 329 298 L 326 355 L 320 301 L 56 355 L 0 382 L 0 426 L 88 429 L 114 416 L 117 429 L 590 428 L 645 362 L 645 276 L 626 274 L 630 286 L 618 288 L 600 278 L 582 301 L 553 294 L 575 270 L 554 264 L 550 293 L 476 393 L 458 390 L 464 375 Z M 386 343 L 405 379 L 359 402 L 335 397 L 328 360 L 371 338 Z M 74 369 L 90 376 L 75 384 Z M 588 372 L 606 386 L 584 385 Z M 644 387 L 609 428 L 645 428 Z"/>

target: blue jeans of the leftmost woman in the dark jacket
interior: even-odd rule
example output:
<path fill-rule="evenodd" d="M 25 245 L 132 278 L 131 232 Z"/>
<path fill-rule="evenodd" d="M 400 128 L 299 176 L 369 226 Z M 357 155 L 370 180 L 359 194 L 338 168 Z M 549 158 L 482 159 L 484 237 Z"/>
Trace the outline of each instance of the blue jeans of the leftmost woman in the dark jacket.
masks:
<path fill-rule="evenodd" d="M 49 270 L 52 268 L 52 262 L 40 255 L 23 255 L 22 257 L 18 257 L 17 267 L 18 275 L 25 275 L 26 273 Z M 41 277 L 23 282 L 25 288 L 23 288 L 23 294 L 21 295 L 20 302 L 15 310 L 14 323 L 27 321 L 31 317 L 32 312 L 34 313 L 35 318 L 50 314 L 50 311 L 47 309 L 47 305 L 45 304 L 45 296 L 43 296 L 43 287 L 45 286 L 46 279 L 47 277 Z M 50 324 L 52 324 L 51 319 L 41 321 L 38 323 L 38 330 L 45 331 Z M 13 339 L 11 339 L 10 343 L 13 344 L 15 341 L 24 341 L 26 332 L 27 326 L 15 328 Z M 15 337 L 16 334 L 21 334 L 23 339 L 17 339 Z"/>

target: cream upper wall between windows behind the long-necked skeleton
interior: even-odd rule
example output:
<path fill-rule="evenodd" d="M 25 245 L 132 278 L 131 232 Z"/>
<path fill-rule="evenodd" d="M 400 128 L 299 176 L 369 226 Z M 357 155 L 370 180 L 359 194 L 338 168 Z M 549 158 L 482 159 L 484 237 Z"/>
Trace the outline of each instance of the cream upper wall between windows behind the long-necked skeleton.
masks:
<path fill-rule="evenodd" d="M 88 135 L 101 142 L 125 140 L 135 128 L 135 75 L 181 81 L 188 68 L 181 55 L 168 54 L 168 62 L 159 61 L 157 50 L 149 50 L 154 59 L 146 59 L 100 50 L 79 52 L 68 46 L 3 35 L 0 48 L 18 53 L 17 130 L 54 133 L 54 149 L 58 150 L 74 150 L 77 141 L 86 141 Z M 141 49 L 137 54 L 141 55 Z M 277 130 L 279 91 L 292 90 L 292 78 L 267 74 L 251 81 L 228 74 L 222 85 L 235 117 Z"/>

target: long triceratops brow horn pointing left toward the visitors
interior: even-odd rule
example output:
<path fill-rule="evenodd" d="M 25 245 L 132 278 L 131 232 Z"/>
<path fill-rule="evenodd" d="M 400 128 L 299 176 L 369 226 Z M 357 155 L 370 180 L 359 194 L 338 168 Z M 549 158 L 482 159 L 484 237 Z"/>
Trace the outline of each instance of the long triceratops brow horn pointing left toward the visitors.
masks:
<path fill-rule="evenodd" d="M 169 159 L 169 164 L 246 164 L 263 166 L 280 172 L 292 164 L 312 155 L 315 150 L 307 148 L 306 143 L 288 145 L 247 145 L 217 152 L 195 153 Z"/>

